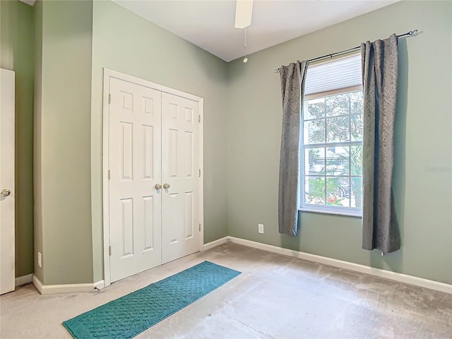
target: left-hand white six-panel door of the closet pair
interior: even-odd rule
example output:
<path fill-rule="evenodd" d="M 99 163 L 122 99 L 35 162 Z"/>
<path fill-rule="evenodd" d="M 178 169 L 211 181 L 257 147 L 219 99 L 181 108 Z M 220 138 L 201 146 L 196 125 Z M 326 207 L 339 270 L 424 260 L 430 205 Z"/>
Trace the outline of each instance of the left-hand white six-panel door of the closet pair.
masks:
<path fill-rule="evenodd" d="M 162 263 L 161 92 L 110 78 L 111 282 Z"/>

